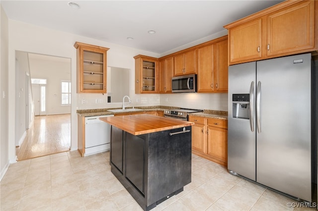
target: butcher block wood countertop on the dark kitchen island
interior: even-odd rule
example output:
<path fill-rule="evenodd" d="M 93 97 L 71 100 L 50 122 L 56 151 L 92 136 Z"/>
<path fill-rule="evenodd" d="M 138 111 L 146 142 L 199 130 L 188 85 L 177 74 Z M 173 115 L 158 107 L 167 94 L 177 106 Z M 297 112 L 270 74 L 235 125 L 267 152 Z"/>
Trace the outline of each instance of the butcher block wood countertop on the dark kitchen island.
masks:
<path fill-rule="evenodd" d="M 194 125 L 193 122 L 170 119 L 151 114 L 109 116 L 99 119 L 133 135 L 142 135 Z"/>

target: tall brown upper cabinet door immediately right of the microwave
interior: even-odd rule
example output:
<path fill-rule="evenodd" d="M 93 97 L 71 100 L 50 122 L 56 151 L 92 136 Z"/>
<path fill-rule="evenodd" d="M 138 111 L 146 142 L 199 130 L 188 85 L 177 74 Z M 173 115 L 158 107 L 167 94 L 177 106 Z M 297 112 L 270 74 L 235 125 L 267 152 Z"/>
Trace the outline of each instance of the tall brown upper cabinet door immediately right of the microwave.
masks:
<path fill-rule="evenodd" d="M 198 92 L 214 91 L 214 45 L 198 49 Z"/>

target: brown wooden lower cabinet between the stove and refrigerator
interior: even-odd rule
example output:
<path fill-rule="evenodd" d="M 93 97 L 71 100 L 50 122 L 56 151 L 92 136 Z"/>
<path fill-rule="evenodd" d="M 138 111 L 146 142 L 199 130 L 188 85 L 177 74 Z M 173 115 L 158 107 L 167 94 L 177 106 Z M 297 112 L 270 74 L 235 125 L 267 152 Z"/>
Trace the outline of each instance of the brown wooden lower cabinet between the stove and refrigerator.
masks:
<path fill-rule="evenodd" d="M 228 121 L 226 119 L 189 116 L 192 126 L 192 153 L 227 166 Z"/>

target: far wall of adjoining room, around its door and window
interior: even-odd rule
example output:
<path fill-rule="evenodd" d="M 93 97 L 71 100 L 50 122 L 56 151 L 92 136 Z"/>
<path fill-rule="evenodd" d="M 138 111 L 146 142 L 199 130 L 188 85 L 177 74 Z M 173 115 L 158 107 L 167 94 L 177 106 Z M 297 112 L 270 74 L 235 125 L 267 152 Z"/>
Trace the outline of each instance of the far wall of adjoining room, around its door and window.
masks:
<path fill-rule="evenodd" d="M 44 59 L 43 59 L 44 58 Z M 48 59 L 45 59 L 48 58 Z M 47 115 L 71 113 L 71 106 L 62 106 L 61 81 L 71 81 L 70 58 L 29 57 L 30 77 L 47 79 Z"/>

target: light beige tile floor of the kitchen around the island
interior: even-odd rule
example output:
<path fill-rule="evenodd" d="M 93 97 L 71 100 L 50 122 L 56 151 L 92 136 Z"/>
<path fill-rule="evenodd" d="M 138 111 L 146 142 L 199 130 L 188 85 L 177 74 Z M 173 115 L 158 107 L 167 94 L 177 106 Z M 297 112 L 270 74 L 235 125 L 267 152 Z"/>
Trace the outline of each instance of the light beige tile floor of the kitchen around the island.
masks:
<path fill-rule="evenodd" d="M 77 151 L 11 164 L 0 182 L 1 211 L 142 211 L 110 172 L 109 152 Z M 152 211 L 291 211 L 297 203 L 192 156 L 192 182 Z"/>

